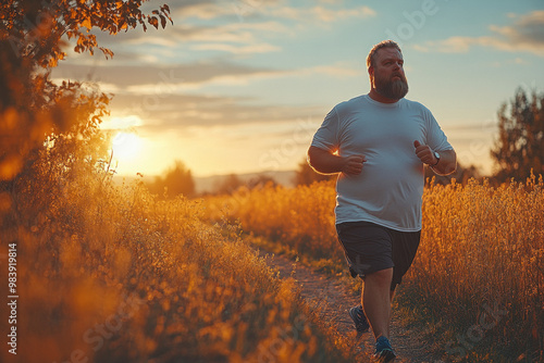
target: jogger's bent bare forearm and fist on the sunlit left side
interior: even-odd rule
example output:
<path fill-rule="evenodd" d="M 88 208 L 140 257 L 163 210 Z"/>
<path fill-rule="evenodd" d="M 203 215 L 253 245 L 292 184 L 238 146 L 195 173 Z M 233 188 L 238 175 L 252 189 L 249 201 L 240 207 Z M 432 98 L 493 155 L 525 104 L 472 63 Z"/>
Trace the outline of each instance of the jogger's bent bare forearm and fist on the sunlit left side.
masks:
<path fill-rule="evenodd" d="M 362 164 L 367 161 L 363 155 L 351 155 L 343 158 L 335 155 L 329 150 L 311 146 L 308 149 L 308 163 L 318 173 L 358 175 L 362 171 Z"/>

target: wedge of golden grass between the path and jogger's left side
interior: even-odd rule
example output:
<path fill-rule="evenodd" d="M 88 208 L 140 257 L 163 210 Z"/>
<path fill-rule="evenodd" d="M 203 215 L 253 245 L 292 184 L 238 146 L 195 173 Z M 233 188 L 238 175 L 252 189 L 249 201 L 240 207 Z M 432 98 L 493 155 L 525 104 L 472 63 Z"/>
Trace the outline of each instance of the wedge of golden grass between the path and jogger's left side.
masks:
<path fill-rule="evenodd" d="M 268 184 L 207 197 L 207 218 L 239 221 L 246 231 L 285 243 L 313 259 L 342 258 L 334 228 L 334 180 L 285 188 Z"/>

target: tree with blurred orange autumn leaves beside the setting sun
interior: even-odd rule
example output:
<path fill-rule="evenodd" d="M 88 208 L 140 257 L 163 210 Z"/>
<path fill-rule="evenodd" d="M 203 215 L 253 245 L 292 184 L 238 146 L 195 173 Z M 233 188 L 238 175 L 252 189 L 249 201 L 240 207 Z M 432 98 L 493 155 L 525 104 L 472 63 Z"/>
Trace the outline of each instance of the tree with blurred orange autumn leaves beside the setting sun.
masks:
<path fill-rule="evenodd" d="M 98 126 L 108 113 L 109 98 L 97 90 L 86 90 L 78 83 L 54 85 L 49 71 L 66 57 L 62 51 L 66 40 L 76 40 L 76 52 L 92 54 L 98 48 L 107 58 L 112 57 L 111 50 L 99 47 L 90 29 L 115 35 L 138 25 L 144 29 L 146 24 L 158 28 L 159 21 L 162 27 L 166 20 L 172 22 L 168 5 L 153 10 L 151 15 L 143 14 L 139 8 L 145 1 L 0 3 L 0 180 L 12 180 L 33 151 L 40 148 L 75 152 L 82 150 L 82 140 L 87 143 L 87 151 L 100 148 L 88 140 L 103 141 Z M 74 160 L 74 152 L 65 157 Z M 87 161 L 100 162 L 97 155 Z"/>

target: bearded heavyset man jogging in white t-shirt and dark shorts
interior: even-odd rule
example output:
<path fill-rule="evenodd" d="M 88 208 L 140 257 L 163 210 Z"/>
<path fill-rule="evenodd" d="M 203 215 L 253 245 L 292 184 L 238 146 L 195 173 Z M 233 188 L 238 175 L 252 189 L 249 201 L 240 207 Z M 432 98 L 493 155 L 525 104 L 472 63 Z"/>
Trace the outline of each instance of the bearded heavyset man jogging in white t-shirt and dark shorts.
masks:
<path fill-rule="evenodd" d="M 334 107 L 317 130 L 308 162 L 339 173 L 336 231 L 361 305 L 351 308 L 358 336 L 372 327 L 374 356 L 390 362 L 391 303 L 421 235 L 423 164 L 438 175 L 456 170 L 456 153 L 432 113 L 404 97 L 408 83 L 398 45 L 385 40 L 367 58 L 370 92 Z"/>

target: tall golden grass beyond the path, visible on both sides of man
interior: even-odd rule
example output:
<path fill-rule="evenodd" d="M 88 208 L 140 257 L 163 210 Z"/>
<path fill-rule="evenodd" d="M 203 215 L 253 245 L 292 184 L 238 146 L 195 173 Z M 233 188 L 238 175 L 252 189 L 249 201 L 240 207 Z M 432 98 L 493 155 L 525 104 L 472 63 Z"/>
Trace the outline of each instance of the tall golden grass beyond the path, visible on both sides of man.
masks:
<path fill-rule="evenodd" d="M 343 265 L 331 183 L 288 189 L 239 189 L 207 200 L 207 217 L 243 228 L 311 259 Z M 536 362 L 544 351 L 544 183 L 498 188 L 471 180 L 431 183 L 423 195 L 418 256 L 400 301 L 431 326 L 448 361 Z"/>

